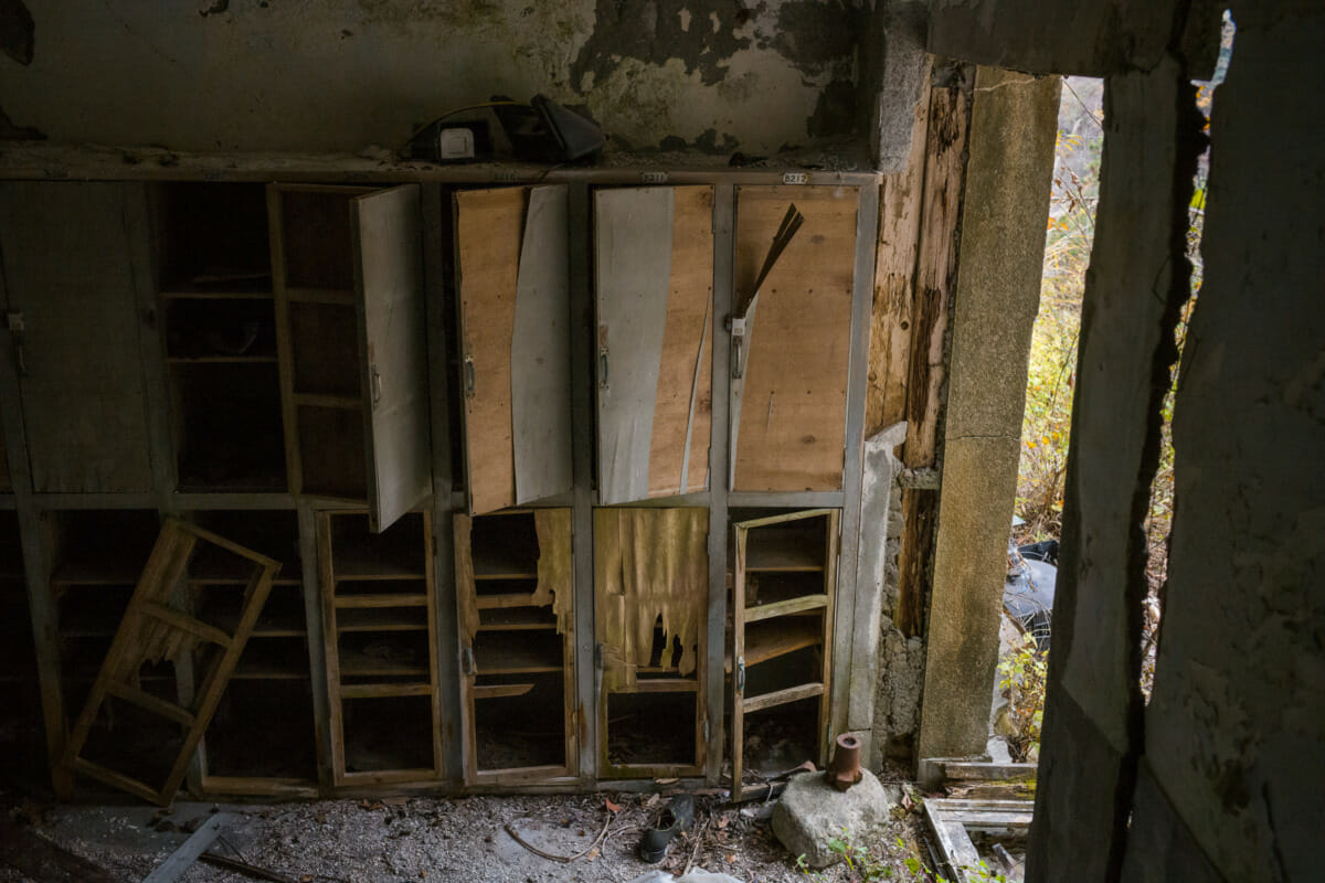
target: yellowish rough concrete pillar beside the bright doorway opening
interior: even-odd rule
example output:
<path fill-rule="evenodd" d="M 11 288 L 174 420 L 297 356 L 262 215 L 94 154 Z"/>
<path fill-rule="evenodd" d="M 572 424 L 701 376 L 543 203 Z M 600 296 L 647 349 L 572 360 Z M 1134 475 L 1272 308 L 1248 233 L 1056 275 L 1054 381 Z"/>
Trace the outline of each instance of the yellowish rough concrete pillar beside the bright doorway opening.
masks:
<path fill-rule="evenodd" d="M 1040 303 L 1059 79 L 980 68 L 971 107 L 920 756 L 979 755 Z"/>

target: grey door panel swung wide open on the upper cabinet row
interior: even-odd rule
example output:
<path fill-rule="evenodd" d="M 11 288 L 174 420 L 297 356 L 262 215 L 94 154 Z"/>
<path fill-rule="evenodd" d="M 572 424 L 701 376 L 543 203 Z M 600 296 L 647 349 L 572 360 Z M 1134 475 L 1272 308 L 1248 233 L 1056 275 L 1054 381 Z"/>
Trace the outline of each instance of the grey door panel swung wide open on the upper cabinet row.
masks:
<path fill-rule="evenodd" d="M 419 185 L 350 201 L 374 532 L 432 492 Z"/>

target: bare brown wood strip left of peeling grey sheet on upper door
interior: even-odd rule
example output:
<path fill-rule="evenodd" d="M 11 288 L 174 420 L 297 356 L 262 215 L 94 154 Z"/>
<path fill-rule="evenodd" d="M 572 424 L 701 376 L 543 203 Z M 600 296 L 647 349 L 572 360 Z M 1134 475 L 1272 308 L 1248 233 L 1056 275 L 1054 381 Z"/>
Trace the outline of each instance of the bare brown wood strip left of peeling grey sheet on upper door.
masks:
<path fill-rule="evenodd" d="M 473 514 L 515 504 L 511 338 L 527 201 L 519 187 L 453 196 L 460 388 Z"/>

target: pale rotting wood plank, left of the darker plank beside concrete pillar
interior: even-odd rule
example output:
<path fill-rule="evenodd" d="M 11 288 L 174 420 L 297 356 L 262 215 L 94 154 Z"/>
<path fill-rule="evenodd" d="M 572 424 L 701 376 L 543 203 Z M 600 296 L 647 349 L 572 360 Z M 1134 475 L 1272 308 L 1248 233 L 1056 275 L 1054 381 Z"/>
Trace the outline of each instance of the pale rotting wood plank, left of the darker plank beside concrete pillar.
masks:
<path fill-rule="evenodd" d="M 928 85 L 922 86 L 922 94 L 929 94 Z M 929 102 L 917 102 L 906 168 L 896 175 L 884 175 L 880 181 L 865 438 L 906 417 L 928 123 Z"/>

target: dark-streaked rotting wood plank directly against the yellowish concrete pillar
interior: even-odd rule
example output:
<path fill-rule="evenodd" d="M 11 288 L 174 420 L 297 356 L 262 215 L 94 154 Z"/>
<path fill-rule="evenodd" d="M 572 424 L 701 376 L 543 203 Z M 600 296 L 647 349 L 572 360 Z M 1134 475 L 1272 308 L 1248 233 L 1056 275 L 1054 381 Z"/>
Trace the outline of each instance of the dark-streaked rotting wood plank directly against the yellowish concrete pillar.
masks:
<path fill-rule="evenodd" d="M 920 244 L 906 379 L 909 469 L 937 463 L 945 340 L 951 293 L 957 285 L 958 236 L 970 124 L 970 97 L 961 85 L 930 90 L 921 196 Z M 937 499 L 931 491 L 902 491 L 902 540 L 894 622 L 906 637 L 924 631 L 925 584 L 933 559 Z"/>

